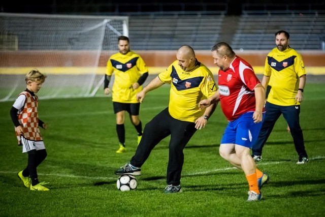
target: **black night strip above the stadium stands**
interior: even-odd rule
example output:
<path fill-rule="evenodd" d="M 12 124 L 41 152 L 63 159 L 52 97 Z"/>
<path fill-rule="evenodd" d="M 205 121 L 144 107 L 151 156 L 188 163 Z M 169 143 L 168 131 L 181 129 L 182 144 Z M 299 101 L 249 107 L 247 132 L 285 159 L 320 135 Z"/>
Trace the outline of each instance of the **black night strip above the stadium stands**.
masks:
<path fill-rule="evenodd" d="M 228 15 L 240 15 L 246 10 L 263 10 L 265 5 L 271 10 L 322 10 L 325 1 L 277 1 L 277 0 L 205 0 L 205 1 L 104 1 L 104 0 L 43 0 L 43 1 L 2 1 L 0 12 L 39 14 L 92 14 L 125 15 L 137 12 L 156 11 L 213 11 L 225 10 Z"/>

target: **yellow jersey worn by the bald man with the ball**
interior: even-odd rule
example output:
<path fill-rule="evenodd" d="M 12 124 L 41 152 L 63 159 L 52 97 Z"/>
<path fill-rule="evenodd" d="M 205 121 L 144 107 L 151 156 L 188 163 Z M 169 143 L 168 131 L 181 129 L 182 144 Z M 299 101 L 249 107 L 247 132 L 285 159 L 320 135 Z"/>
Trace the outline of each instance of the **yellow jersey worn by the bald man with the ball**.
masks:
<path fill-rule="evenodd" d="M 169 113 L 178 120 L 195 122 L 204 113 L 199 109 L 199 102 L 217 90 L 211 71 L 199 61 L 192 71 L 185 72 L 176 60 L 158 77 L 171 84 Z"/>

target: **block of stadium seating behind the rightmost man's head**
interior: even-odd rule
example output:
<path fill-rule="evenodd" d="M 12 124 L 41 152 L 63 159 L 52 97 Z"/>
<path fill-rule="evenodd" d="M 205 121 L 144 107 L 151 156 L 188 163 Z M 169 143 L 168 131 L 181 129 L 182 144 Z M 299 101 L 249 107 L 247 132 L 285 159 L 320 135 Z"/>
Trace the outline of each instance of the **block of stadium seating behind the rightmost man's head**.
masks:
<path fill-rule="evenodd" d="M 290 46 L 299 50 L 321 49 L 325 35 L 325 15 L 313 14 L 243 14 L 233 36 L 234 49 L 272 49 L 274 34 L 290 34 Z"/>

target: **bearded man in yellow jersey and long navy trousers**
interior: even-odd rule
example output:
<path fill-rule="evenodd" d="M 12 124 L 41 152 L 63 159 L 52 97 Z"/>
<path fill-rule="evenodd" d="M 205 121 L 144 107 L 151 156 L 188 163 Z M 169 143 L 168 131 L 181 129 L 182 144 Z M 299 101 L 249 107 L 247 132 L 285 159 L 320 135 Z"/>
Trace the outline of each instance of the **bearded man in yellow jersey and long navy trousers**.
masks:
<path fill-rule="evenodd" d="M 252 147 L 254 161 L 262 160 L 262 149 L 267 141 L 276 120 L 282 114 L 288 123 L 291 136 L 299 159 L 297 164 L 308 163 L 304 145 L 304 136 L 300 128 L 300 103 L 303 101 L 303 91 L 306 83 L 306 70 L 301 55 L 290 48 L 290 35 L 284 30 L 275 34 L 274 48 L 265 61 L 262 85 L 266 88 L 270 79 L 270 92 L 265 104 L 266 115 L 261 131 Z"/>

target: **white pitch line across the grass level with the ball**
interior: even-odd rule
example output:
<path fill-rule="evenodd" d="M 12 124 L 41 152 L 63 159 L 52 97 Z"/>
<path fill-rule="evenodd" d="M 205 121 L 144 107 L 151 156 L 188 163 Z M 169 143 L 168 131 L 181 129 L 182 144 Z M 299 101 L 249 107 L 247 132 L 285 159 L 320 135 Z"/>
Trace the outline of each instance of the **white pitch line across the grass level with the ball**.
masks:
<path fill-rule="evenodd" d="M 309 158 L 309 160 L 322 160 L 325 159 L 324 156 L 317 156 L 314 158 Z M 258 163 L 257 165 L 272 165 L 272 164 L 282 164 L 282 163 L 287 163 L 287 161 L 276 161 L 276 162 L 267 162 L 267 163 Z M 205 174 L 209 174 L 212 172 L 218 172 L 218 171 L 226 171 L 226 170 L 235 170 L 237 169 L 236 167 L 225 167 L 225 168 L 219 168 L 219 169 L 214 169 L 214 170 L 209 170 L 209 171 L 202 171 L 202 172 L 194 172 L 194 173 L 188 173 L 188 174 L 184 174 L 187 176 L 194 176 L 194 175 L 205 175 Z M 0 171 L 0 173 L 13 173 L 13 174 L 17 174 L 17 172 L 12 172 L 12 171 Z M 44 175 L 44 176 L 58 176 L 58 177 L 67 177 L 67 178 L 85 178 L 85 179 L 116 179 L 116 177 L 95 177 L 95 176 L 78 176 L 78 175 L 68 175 L 68 174 L 48 174 L 48 173 L 39 173 L 39 175 Z"/>

